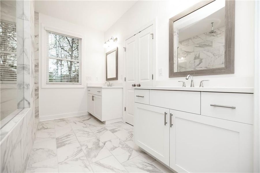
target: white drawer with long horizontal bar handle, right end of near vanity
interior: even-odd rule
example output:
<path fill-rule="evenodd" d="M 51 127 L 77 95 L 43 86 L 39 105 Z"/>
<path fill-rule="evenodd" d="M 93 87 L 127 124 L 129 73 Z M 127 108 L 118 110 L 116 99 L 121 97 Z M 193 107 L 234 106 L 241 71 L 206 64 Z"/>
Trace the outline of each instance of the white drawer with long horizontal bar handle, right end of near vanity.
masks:
<path fill-rule="evenodd" d="M 253 124 L 253 94 L 201 92 L 201 114 Z"/>

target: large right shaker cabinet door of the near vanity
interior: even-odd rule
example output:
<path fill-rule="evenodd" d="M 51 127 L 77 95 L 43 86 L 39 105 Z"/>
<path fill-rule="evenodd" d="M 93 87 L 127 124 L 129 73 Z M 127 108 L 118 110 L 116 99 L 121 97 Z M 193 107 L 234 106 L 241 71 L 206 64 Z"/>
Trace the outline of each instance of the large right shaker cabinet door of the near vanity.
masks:
<path fill-rule="evenodd" d="M 252 125 L 170 110 L 170 167 L 177 172 L 252 172 Z"/>

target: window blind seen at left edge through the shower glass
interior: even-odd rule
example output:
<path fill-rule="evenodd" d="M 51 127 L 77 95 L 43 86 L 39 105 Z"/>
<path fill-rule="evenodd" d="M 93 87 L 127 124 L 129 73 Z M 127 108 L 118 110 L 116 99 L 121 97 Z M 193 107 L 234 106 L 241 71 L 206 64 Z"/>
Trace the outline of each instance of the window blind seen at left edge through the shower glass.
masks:
<path fill-rule="evenodd" d="M 16 23 L 1 20 L 0 22 L 0 81 L 16 83 L 17 68 Z"/>

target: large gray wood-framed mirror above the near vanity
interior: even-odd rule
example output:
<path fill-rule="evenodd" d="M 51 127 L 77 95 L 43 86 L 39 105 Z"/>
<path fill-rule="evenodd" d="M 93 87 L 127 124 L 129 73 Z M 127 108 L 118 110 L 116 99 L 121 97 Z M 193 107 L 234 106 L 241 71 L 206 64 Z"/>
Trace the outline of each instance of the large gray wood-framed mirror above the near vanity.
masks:
<path fill-rule="evenodd" d="M 224 4 L 224 7 L 219 8 L 219 10 L 218 10 L 218 9 L 216 9 L 216 5 L 214 3 L 219 3 L 219 1 L 220 0 L 201 1 L 169 19 L 169 78 L 182 77 L 182 76 L 186 76 L 188 74 L 191 74 L 193 76 L 203 76 L 203 75 L 233 74 L 234 73 L 235 1 L 224 1 L 224 2 L 222 1 L 222 3 Z M 212 8 L 212 11 L 214 13 L 212 13 L 212 12 L 209 13 L 210 9 L 205 9 L 205 8 Z M 222 14 L 220 14 L 220 12 L 222 12 Z M 211 16 L 211 18 L 206 16 L 207 13 L 208 13 L 208 16 Z M 205 16 L 203 16 L 204 14 L 205 14 Z M 216 14 L 218 14 L 219 16 L 222 15 L 222 21 L 223 21 L 222 27 L 220 25 L 220 23 L 221 23 L 220 19 L 217 20 L 214 18 L 214 15 L 216 17 Z M 201 15 L 200 18 L 198 17 L 199 15 Z M 192 16 L 192 17 L 189 18 L 189 16 Z M 196 21 L 196 18 L 197 18 L 197 21 Z M 203 22 L 202 22 L 203 19 L 207 19 L 206 21 L 204 21 L 204 23 L 207 23 L 207 29 L 208 29 L 207 32 L 205 32 L 205 25 L 203 25 Z M 212 22 L 214 21 L 214 19 L 215 19 L 215 23 L 217 25 L 219 24 L 217 26 L 219 28 L 216 28 L 216 29 L 213 28 Z M 189 23 L 187 23 L 187 22 L 189 22 Z M 179 28 L 175 27 L 175 25 L 178 26 Z M 194 27 L 195 25 L 196 25 L 196 27 Z M 192 26 L 192 27 L 190 27 L 190 26 Z M 193 30 L 191 30 L 191 28 Z M 209 34 L 216 36 L 216 34 L 218 33 L 218 30 L 220 31 L 221 28 L 223 30 L 222 31 L 222 43 L 224 43 L 224 45 L 220 45 L 219 48 L 217 48 L 217 49 L 220 49 L 219 51 L 222 50 L 222 57 L 220 57 L 221 53 L 217 54 L 217 56 L 219 58 L 222 58 L 220 60 L 218 59 L 218 61 L 221 61 L 222 64 L 213 63 L 213 65 L 212 65 L 210 63 L 217 59 L 216 54 L 213 53 L 213 55 L 215 55 L 215 59 L 213 59 L 214 58 L 213 56 L 207 57 L 207 55 L 208 55 L 207 50 L 202 50 L 202 51 L 204 51 L 204 54 L 203 54 L 203 52 L 200 52 L 199 48 L 201 48 L 200 47 L 201 45 L 203 45 L 203 44 L 207 45 L 209 43 L 212 46 L 211 47 L 209 46 L 208 49 L 210 49 L 210 48 L 214 49 L 214 45 L 212 44 L 213 39 L 211 41 L 208 41 L 206 39 L 206 37 Z M 199 35 L 200 29 L 203 31 L 201 33 L 201 35 Z M 182 33 L 179 33 L 179 31 L 181 31 L 181 30 L 182 30 Z M 190 35 L 191 35 L 190 33 L 192 33 L 192 32 L 197 33 L 197 35 L 193 35 L 192 37 L 190 37 Z M 217 36 L 219 36 L 219 35 L 217 35 Z M 179 38 L 182 39 L 181 41 L 183 41 L 183 44 L 180 44 L 181 41 L 179 41 Z M 210 39 L 210 37 L 208 37 L 208 38 Z M 188 39 L 190 39 L 189 42 L 187 42 Z M 192 40 L 192 39 L 194 39 L 194 40 Z M 198 41 L 198 39 L 200 41 Z M 203 39 L 205 39 L 204 43 L 203 43 Z M 218 38 L 218 39 L 220 39 L 220 38 Z M 200 43 L 198 43 L 198 42 L 200 42 Z M 205 43 L 205 42 L 208 42 L 208 43 Z M 197 48 L 197 50 L 195 50 L 194 47 L 193 47 L 193 50 L 187 50 L 187 49 L 189 49 L 188 46 L 190 46 L 190 48 L 192 48 L 192 44 L 195 48 Z M 180 46 L 186 45 L 186 47 L 185 47 L 186 50 L 184 49 L 184 47 L 180 48 L 179 45 Z M 215 44 L 215 45 L 217 45 L 217 44 Z M 212 51 L 214 52 L 214 50 L 212 50 Z M 191 54 L 192 54 L 192 56 L 189 57 L 189 55 L 191 55 Z M 204 57 L 203 57 L 203 55 L 204 55 Z M 210 54 L 210 55 L 212 55 L 212 54 Z"/>

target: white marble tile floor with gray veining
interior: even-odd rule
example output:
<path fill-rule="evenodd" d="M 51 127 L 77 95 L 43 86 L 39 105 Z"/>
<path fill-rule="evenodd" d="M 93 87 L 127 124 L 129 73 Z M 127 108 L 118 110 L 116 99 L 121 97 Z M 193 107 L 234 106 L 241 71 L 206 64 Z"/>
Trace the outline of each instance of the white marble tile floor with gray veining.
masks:
<path fill-rule="evenodd" d="M 134 144 L 133 126 L 92 115 L 40 122 L 26 172 L 171 172 Z"/>

